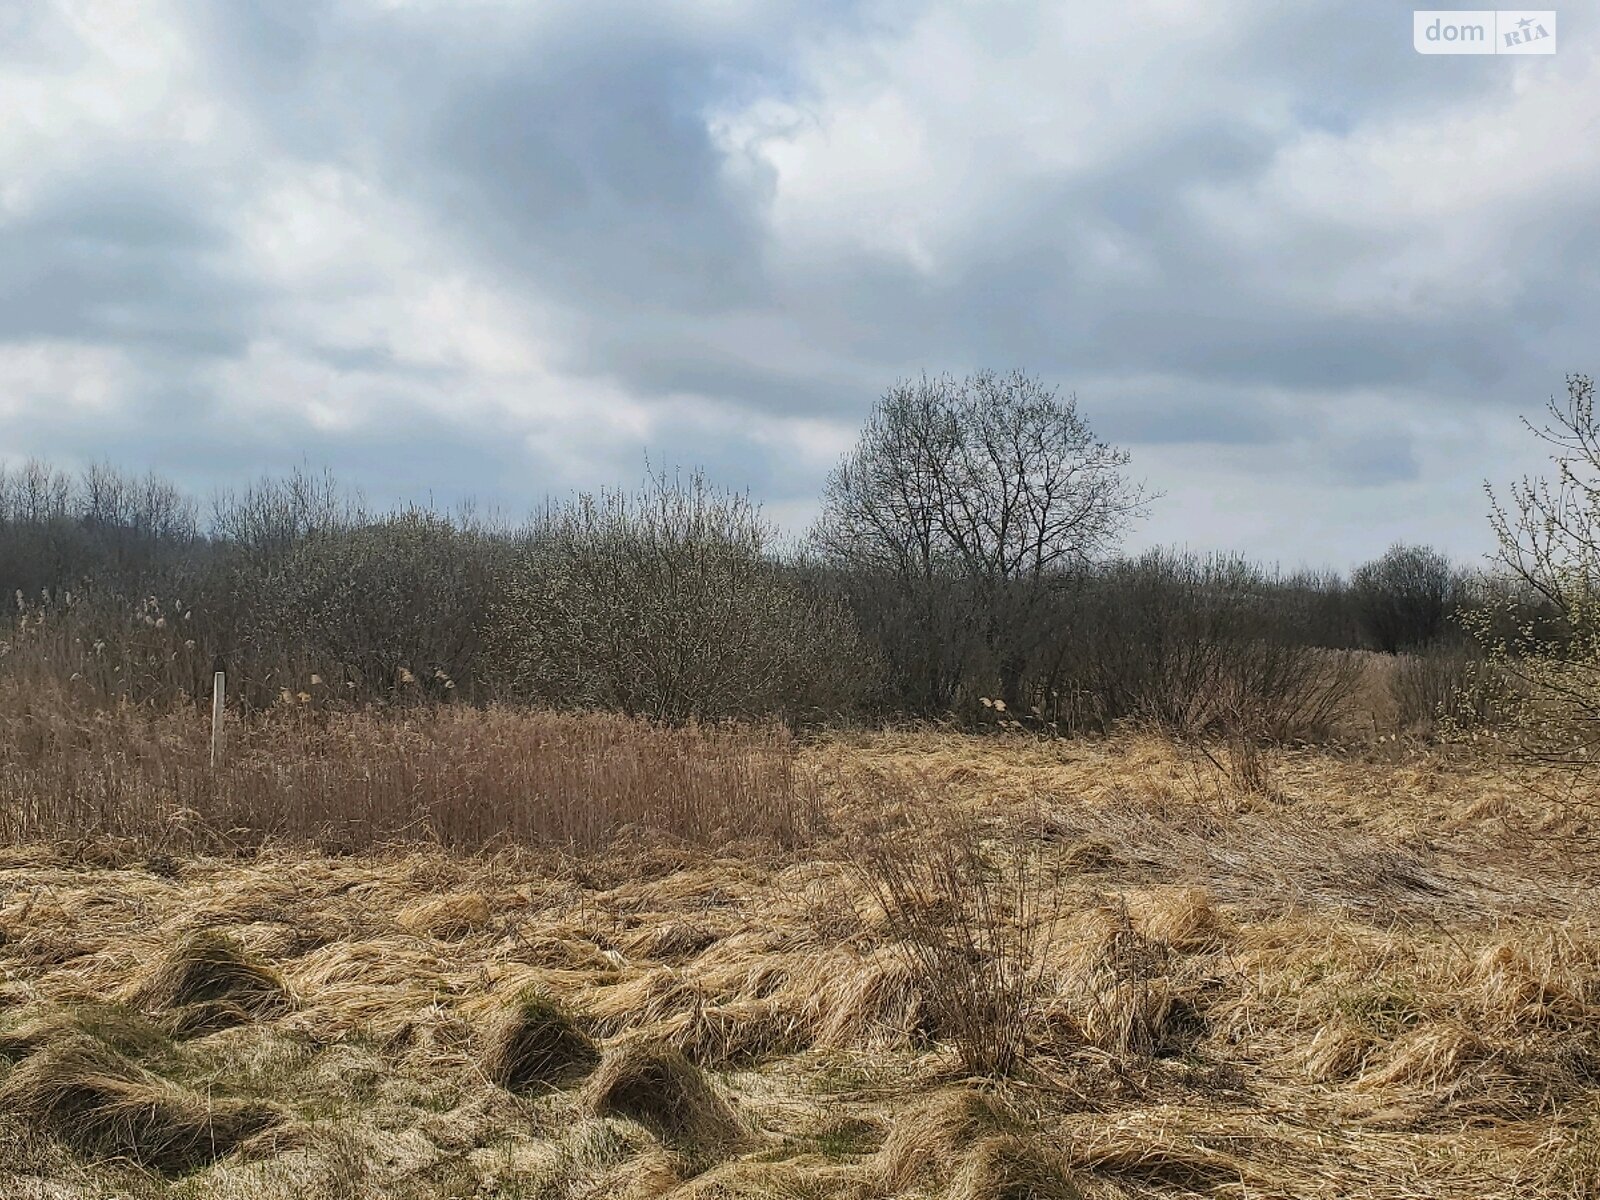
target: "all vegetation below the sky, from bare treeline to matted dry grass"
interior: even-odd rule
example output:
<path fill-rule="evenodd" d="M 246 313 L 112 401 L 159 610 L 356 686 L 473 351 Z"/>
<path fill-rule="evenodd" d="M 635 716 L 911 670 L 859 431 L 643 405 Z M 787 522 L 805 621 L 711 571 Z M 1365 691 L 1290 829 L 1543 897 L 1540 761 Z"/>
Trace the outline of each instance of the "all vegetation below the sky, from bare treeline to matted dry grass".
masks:
<path fill-rule="evenodd" d="M 0 1195 L 1600 1195 L 1541 432 L 1496 565 L 1349 579 L 1118 554 L 1026 376 L 891 389 L 805 546 L 11 469 Z"/>

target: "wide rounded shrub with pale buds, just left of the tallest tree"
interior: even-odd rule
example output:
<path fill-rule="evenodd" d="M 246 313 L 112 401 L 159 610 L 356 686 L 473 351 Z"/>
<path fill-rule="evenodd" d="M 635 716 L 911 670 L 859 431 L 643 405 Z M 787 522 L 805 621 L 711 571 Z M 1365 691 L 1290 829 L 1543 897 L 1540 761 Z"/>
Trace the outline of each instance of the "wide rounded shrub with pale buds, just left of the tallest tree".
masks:
<path fill-rule="evenodd" d="M 547 510 L 494 616 L 509 691 L 667 722 L 850 707 L 867 656 L 771 562 L 773 536 L 699 475 Z"/>

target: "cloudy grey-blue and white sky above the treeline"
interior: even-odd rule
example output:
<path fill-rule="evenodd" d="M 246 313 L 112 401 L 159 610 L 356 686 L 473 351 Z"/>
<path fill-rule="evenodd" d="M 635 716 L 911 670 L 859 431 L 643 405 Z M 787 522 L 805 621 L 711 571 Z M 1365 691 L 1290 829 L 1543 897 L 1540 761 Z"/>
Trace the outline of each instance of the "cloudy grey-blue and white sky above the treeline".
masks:
<path fill-rule="evenodd" d="M 522 510 L 648 454 L 798 530 L 890 382 L 1018 366 L 1165 493 L 1139 544 L 1478 555 L 1600 373 L 1597 24 L 0 0 L 0 459 Z"/>

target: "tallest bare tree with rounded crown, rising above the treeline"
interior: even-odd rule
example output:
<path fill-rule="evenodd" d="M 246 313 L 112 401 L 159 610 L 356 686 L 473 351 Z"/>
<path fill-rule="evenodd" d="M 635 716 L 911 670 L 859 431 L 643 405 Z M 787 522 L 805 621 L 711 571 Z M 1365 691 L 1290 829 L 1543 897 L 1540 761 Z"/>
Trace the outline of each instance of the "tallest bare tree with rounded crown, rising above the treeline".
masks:
<path fill-rule="evenodd" d="M 885 394 L 827 480 L 813 544 L 891 581 L 918 622 L 923 707 L 955 693 L 941 640 L 968 634 L 1006 704 L 1019 701 L 1035 618 L 1074 568 L 1096 562 L 1147 494 L 1128 454 L 1030 376 L 981 371 L 904 381 Z M 950 618 L 950 584 L 965 619 Z"/>

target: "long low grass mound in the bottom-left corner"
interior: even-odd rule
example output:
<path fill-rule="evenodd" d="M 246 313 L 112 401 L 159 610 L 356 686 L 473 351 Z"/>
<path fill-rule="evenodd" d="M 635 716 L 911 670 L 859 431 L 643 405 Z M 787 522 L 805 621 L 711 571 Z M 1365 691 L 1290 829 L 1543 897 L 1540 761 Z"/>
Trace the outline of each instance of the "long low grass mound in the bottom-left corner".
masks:
<path fill-rule="evenodd" d="M 45 1045 L 6 1075 L 0 1109 L 80 1154 L 171 1174 L 221 1158 L 282 1122 L 264 1104 L 178 1088 L 82 1034 Z"/>

